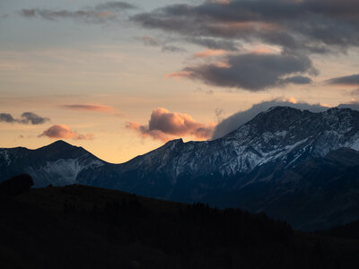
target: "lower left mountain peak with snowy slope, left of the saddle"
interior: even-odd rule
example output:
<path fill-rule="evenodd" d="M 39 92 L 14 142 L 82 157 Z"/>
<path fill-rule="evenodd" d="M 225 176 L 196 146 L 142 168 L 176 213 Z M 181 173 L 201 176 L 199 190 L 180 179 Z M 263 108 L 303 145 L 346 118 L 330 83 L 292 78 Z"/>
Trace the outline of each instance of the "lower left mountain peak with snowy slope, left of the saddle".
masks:
<path fill-rule="evenodd" d="M 0 149 L 0 181 L 28 173 L 34 178 L 35 187 L 66 186 L 77 183 L 84 169 L 99 168 L 104 163 L 82 147 L 62 140 L 37 150 Z"/>

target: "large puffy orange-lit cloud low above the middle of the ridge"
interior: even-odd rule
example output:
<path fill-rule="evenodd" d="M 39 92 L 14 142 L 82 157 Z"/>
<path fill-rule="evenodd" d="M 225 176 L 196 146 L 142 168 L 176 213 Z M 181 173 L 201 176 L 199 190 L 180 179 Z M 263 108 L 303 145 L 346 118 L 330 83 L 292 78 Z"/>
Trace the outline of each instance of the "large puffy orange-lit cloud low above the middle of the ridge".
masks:
<path fill-rule="evenodd" d="M 204 125 L 188 114 L 170 112 L 165 108 L 153 109 L 148 126 L 136 122 L 128 122 L 127 128 L 136 131 L 142 137 L 167 142 L 180 136 L 193 136 L 206 140 L 212 136 L 215 124 Z"/>

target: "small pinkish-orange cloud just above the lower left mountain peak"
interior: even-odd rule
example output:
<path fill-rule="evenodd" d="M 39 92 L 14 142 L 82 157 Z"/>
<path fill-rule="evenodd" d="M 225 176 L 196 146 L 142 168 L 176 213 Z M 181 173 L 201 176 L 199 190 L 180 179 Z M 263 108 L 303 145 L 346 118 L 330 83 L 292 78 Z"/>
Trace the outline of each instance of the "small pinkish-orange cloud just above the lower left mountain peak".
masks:
<path fill-rule="evenodd" d="M 74 140 L 92 140 L 93 134 L 78 134 L 70 129 L 70 127 L 65 125 L 55 125 L 49 127 L 42 134 L 39 134 L 38 137 L 47 136 L 48 138 L 55 139 L 66 139 L 71 138 Z"/>

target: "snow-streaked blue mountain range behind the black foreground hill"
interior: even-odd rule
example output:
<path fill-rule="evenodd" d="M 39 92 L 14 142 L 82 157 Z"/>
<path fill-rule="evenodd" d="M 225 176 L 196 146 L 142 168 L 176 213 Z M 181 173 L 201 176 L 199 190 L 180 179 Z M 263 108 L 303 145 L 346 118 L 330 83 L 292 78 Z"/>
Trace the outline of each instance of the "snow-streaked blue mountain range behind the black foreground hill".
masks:
<path fill-rule="evenodd" d="M 178 202 L 265 212 L 299 230 L 359 216 L 359 111 L 274 107 L 222 138 L 181 139 L 122 164 L 63 141 L 0 149 L 0 181 L 28 173 L 35 187 L 82 184 Z"/>

